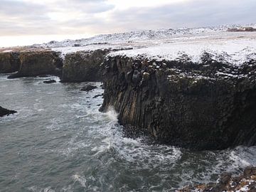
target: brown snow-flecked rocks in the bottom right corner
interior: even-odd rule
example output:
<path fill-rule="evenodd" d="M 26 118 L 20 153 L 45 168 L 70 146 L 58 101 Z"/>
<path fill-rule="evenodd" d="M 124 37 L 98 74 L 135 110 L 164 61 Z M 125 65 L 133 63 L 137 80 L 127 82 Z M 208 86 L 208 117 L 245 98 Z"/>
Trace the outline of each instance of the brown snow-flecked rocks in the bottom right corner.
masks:
<path fill-rule="evenodd" d="M 245 168 L 240 176 L 232 176 L 230 173 L 220 175 L 218 183 L 187 186 L 177 192 L 220 192 L 220 191 L 256 191 L 256 167 Z"/>

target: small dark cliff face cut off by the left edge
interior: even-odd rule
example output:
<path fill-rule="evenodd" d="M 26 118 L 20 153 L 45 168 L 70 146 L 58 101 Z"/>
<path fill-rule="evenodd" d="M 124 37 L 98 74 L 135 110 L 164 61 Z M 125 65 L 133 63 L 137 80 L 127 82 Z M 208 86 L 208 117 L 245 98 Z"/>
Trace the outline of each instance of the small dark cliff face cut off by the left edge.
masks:
<path fill-rule="evenodd" d="M 0 53 L 0 73 L 14 73 L 17 71 L 21 65 L 18 55 L 19 53 L 14 52 Z"/>

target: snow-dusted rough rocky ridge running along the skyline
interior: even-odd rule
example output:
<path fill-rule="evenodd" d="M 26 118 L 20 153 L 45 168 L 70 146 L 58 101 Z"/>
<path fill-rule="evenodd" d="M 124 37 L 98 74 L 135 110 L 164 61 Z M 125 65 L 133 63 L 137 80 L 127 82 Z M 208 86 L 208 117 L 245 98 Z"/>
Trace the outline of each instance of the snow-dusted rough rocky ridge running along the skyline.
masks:
<path fill-rule="evenodd" d="M 252 25 L 248 25 L 252 26 Z M 56 48 L 56 47 L 70 47 L 70 46 L 90 46 L 102 45 L 106 43 L 124 43 L 131 41 L 147 41 L 164 38 L 175 38 L 179 36 L 195 36 L 206 35 L 210 33 L 220 33 L 227 31 L 228 28 L 241 27 L 238 25 L 218 26 L 218 27 L 204 27 L 204 28 L 169 28 L 149 31 L 131 31 L 127 33 L 113 33 L 98 35 L 92 38 L 82 38 L 78 40 L 65 41 L 50 41 L 49 43 L 35 44 L 35 48 Z"/>

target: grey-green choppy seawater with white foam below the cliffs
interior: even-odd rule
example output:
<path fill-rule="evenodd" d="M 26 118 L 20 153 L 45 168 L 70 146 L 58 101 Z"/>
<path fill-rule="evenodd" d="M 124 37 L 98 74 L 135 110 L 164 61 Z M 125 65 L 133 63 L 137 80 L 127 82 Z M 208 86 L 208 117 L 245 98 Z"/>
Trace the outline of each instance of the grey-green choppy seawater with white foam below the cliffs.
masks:
<path fill-rule="evenodd" d="M 122 137 L 117 114 L 98 112 L 103 92 L 84 84 L 6 80 L 0 105 L 0 191 L 175 191 L 256 166 L 256 147 L 188 151 Z"/>

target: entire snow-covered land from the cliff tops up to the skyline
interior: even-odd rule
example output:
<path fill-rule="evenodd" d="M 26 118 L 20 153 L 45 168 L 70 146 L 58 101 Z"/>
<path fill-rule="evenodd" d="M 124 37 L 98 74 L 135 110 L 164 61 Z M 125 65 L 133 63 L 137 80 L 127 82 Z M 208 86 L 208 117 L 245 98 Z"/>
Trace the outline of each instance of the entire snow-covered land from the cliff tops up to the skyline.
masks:
<path fill-rule="evenodd" d="M 255 24 L 247 26 L 256 28 Z M 234 65 L 256 60 L 256 32 L 227 32 L 228 28 L 235 27 L 241 26 L 132 31 L 75 41 L 51 41 L 34 45 L 33 48 L 51 48 L 63 55 L 78 50 L 125 49 L 114 51 L 110 55 L 144 55 L 156 60 L 176 60 L 187 55 L 194 63 L 200 62 L 205 52 L 210 53 L 215 60 L 224 60 Z"/>

